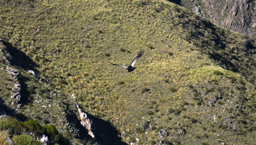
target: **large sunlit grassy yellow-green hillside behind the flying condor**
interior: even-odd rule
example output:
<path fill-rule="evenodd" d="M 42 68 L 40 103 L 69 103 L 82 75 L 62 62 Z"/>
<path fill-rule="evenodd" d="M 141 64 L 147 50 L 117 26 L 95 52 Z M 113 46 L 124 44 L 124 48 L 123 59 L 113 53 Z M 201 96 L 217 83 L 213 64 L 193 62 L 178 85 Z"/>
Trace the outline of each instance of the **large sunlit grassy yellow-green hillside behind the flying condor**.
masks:
<path fill-rule="evenodd" d="M 255 143 L 249 37 L 164 0 L 7 2 L 1 98 L 71 144 Z M 127 66 L 140 49 L 132 72 L 109 64 Z"/>

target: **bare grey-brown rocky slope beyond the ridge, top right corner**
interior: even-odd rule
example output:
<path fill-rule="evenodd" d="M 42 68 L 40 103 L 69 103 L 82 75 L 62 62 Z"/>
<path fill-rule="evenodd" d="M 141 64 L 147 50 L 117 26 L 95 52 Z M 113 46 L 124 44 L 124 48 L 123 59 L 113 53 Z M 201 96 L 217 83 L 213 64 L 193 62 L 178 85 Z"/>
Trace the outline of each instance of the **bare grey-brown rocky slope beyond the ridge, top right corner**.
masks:
<path fill-rule="evenodd" d="M 184 0 L 181 4 L 192 11 L 200 7 L 196 13 L 213 23 L 256 39 L 255 0 Z"/>

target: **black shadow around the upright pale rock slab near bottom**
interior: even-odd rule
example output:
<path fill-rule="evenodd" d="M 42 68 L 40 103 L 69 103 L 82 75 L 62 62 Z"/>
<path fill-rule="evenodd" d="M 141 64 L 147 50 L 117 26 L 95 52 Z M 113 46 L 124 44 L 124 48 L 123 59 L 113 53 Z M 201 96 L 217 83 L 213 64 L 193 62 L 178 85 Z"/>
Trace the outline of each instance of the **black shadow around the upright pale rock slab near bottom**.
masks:
<path fill-rule="evenodd" d="M 68 104 L 66 104 L 68 106 Z M 84 111 L 83 111 L 84 112 Z M 93 139 L 89 134 L 88 131 L 83 127 L 80 123 L 80 119 L 76 117 L 76 113 L 73 110 L 66 107 L 65 109 L 66 119 L 68 121 L 67 129 L 75 128 L 72 134 L 75 134 L 76 138 L 91 141 L 92 143 L 97 143 L 100 145 L 127 145 L 126 143 L 121 141 L 121 138 L 118 136 L 120 133 L 117 131 L 115 127 L 111 125 L 110 122 L 95 117 L 87 112 L 85 112 L 92 120 L 92 132 L 95 136 Z"/>

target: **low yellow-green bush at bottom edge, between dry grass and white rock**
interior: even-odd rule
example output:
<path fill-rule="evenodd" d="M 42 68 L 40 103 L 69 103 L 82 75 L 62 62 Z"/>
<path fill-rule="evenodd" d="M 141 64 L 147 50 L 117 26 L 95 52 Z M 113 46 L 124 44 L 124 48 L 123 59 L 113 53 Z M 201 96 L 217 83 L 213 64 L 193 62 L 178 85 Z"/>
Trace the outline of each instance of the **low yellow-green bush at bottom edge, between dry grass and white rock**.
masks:
<path fill-rule="evenodd" d="M 12 141 L 17 145 L 43 145 L 41 141 L 38 141 L 29 135 L 13 136 Z"/>

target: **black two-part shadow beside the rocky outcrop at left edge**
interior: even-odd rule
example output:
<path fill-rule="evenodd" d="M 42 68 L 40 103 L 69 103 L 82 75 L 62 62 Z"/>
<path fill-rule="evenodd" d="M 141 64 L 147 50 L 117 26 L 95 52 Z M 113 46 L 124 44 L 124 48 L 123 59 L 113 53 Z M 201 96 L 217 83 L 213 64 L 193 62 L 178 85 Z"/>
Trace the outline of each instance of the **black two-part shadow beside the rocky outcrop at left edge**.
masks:
<path fill-rule="evenodd" d="M 7 53 L 9 53 L 11 56 L 8 56 L 7 59 L 10 62 L 11 66 L 18 66 L 22 69 L 24 69 L 25 71 L 28 70 L 33 70 L 34 72 L 36 72 L 36 74 L 38 73 L 38 70 L 36 70 L 34 67 L 37 67 L 38 65 L 32 60 L 30 59 L 24 52 L 18 50 L 16 47 L 12 46 L 10 43 L 3 41 L 3 45 L 7 47 L 7 49 L 5 49 L 5 51 L 7 51 Z M 22 75 L 19 74 L 19 80 L 20 80 L 20 102 L 21 104 L 26 104 L 29 101 L 29 97 L 30 97 L 30 93 L 33 93 L 33 89 L 30 90 L 30 92 L 28 91 L 28 86 L 25 84 L 25 82 L 27 80 L 29 80 L 29 78 L 26 78 Z"/>

